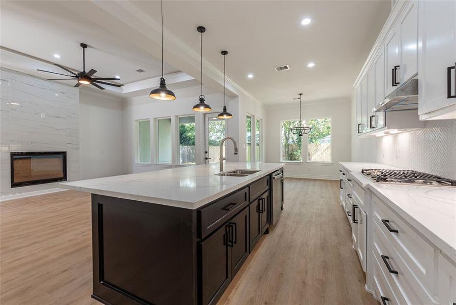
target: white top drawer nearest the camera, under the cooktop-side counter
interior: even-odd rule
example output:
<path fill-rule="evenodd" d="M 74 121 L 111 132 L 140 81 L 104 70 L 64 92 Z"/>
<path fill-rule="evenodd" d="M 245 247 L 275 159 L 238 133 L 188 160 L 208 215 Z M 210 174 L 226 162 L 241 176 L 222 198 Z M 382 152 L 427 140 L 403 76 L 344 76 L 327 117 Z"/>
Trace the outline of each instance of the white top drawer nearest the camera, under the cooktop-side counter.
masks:
<path fill-rule="evenodd" d="M 434 292 L 434 248 L 375 195 L 373 202 L 374 221 L 388 238 L 392 248 L 425 288 Z M 391 232 L 387 226 L 398 232 Z"/>

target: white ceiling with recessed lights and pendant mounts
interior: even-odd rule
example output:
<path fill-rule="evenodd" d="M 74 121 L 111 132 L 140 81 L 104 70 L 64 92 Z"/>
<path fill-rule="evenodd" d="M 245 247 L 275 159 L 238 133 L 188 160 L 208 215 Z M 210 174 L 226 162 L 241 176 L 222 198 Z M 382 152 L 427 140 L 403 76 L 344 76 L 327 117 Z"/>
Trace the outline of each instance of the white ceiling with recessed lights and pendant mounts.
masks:
<path fill-rule="evenodd" d="M 121 83 L 160 74 L 159 1 L 37 1 L 1 5 L 4 47 L 81 69 L 121 76 Z M 229 85 L 266 105 L 350 96 L 352 84 L 385 22 L 390 1 L 165 1 L 165 74 L 199 75 L 204 25 L 203 81 L 220 89 L 228 50 Z M 308 26 L 302 18 L 312 18 Z M 17 39 L 20 37 L 21 39 Z M 309 62 L 315 67 L 307 68 Z M 275 66 L 291 70 L 276 72 Z M 145 67 L 145 68 L 144 68 Z M 175 68 L 172 68 L 175 67 Z M 148 74 L 134 70 L 142 68 Z M 56 68 L 58 70 L 58 68 Z M 86 68 L 86 70 L 88 70 Z M 55 71 L 57 71 L 55 70 Z M 248 79 L 247 74 L 254 78 Z"/>

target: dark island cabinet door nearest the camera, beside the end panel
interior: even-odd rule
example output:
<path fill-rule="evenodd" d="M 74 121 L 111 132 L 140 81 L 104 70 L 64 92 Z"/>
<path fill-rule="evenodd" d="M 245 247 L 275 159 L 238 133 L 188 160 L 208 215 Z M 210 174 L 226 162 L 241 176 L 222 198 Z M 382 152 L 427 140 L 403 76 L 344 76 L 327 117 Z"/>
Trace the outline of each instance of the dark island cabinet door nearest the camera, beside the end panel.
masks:
<path fill-rule="evenodd" d="M 232 230 L 227 224 L 200 243 L 203 305 L 216 304 L 231 281 Z"/>

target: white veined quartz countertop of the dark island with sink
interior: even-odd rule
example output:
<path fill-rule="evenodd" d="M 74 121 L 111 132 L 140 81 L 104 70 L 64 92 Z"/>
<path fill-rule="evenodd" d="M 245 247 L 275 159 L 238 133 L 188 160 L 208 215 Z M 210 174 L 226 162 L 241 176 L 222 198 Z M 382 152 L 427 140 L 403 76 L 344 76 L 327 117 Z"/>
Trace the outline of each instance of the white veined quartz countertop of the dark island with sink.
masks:
<path fill-rule="evenodd" d="M 224 164 L 224 172 L 258 169 L 245 177 L 217 176 L 219 163 L 177 167 L 129 175 L 64 182 L 60 188 L 124 199 L 199 208 L 282 167 L 281 163 Z"/>

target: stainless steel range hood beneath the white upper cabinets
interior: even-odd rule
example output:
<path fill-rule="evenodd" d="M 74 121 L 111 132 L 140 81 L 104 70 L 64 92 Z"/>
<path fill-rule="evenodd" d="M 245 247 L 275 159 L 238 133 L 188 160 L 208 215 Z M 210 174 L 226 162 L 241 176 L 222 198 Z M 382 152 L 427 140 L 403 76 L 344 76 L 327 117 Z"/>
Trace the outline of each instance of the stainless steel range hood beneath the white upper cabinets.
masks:
<path fill-rule="evenodd" d="M 383 102 L 374 107 L 374 112 L 418 109 L 418 79 L 413 78 L 394 90 Z"/>

